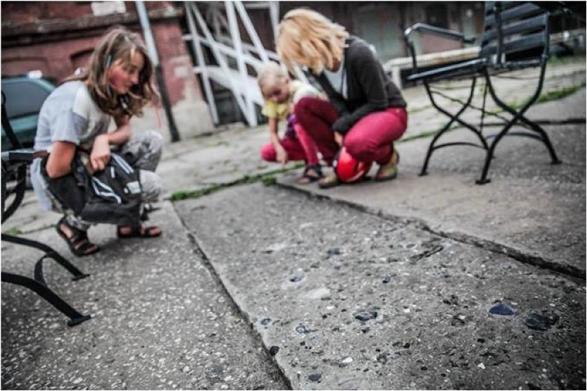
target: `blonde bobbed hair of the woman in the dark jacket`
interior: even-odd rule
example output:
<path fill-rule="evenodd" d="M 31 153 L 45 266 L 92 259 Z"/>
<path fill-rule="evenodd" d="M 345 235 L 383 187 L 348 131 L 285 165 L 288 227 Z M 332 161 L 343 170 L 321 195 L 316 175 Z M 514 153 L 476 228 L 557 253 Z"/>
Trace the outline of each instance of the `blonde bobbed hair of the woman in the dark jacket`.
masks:
<path fill-rule="evenodd" d="M 320 74 L 342 59 L 347 30 L 324 15 L 305 8 L 285 14 L 278 26 L 277 52 L 291 72 L 294 63 Z"/>

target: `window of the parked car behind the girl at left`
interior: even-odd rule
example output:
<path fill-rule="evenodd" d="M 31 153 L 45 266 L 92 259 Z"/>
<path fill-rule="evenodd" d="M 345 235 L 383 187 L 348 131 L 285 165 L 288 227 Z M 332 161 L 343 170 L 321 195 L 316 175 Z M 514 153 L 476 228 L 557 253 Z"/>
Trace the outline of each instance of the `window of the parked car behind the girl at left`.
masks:
<path fill-rule="evenodd" d="M 2 92 L 6 95 L 6 112 L 10 119 L 39 113 L 50 94 L 32 81 L 2 83 Z"/>

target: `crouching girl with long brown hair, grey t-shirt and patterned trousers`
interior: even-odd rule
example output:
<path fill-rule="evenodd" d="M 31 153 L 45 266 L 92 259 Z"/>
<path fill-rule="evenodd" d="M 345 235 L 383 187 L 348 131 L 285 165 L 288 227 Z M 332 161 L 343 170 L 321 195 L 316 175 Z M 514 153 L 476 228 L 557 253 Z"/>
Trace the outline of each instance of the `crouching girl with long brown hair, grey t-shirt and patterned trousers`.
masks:
<path fill-rule="evenodd" d="M 115 147 L 140 170 L 143 202 L 157 198 L 161 178 L 153 171 L 161 158 L 162 138 L 155 131 L 133 134 L 129 125 L 130 117 L 140 115 L 145 104 L 156 97 L 152 72 L 151 60 L 138 34 L 114 28 L 96 46 L 90 69 L 59 85 L 41 107 L 34 149 L 50 154 L 43 170 L 42 160 L 34 160 L 31 181 L 41 207 L 63 214 L 56 230 L 77 256 L 99 250 L 87 237 L 90 224 L 56 200 L 48 191 L 47 180 L 71 175 L 79 147 L 90 151 L 94 171 L 104 169 L 111 147 Z M 116 129 L 108 132 L 112 119 Z M 156 237 L 161 235 L 161 229 L 144 224 L 119 226 L 117 234 L 121 238 Z"/>

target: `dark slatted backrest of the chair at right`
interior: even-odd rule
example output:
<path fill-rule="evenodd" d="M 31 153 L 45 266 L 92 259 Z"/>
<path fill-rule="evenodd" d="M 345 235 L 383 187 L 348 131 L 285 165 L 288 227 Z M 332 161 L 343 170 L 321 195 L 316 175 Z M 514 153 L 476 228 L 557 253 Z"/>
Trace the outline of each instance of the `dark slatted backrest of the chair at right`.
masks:
<path fill-rule="evenodd" d="M 548 58 L 548 11 L 531 2 L 487 1 L 480 56 L 522 56 L 524 61 Z"/>

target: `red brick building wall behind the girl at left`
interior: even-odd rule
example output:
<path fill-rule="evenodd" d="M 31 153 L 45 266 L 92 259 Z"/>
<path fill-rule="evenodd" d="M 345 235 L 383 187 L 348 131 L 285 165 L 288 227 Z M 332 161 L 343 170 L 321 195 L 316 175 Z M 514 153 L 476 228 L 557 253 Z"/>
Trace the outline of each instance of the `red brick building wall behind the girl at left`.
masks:
<path fill-rule="evenodd" d="M 183 41 L 183 7 L 145 1 L 172 114 L 181 138 L 212 130 L 207 105 Z M 86 67 L 101 35 L 112 25 L 142 34 L 134 1 L 2 1 L 2 76 L 40 71 L 54 83 Z M 157 129 L 169 140 L 158 106 L 134 118 L 135 127 Z"/>

